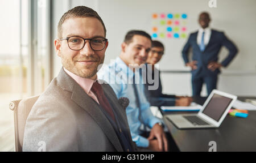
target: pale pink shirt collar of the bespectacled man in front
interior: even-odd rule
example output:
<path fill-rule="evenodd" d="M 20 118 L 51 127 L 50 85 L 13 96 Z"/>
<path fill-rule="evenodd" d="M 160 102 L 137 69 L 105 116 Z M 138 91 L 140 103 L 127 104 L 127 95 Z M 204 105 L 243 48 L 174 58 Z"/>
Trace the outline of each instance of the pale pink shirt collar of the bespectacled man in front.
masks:
<path fill-rule="evenodd" d="M 78 83 L 82 87 L 82 89 L 84 89 L 84 91 L 87 94 L 90 92 L 90 89 L 92 88 L 93 83 L 95 81 L 97 81 L 97 78 L 96 78 L 96 80 L 92 80 L 92 79 L 88 79 L 88 78 L 82 78 L 80 76 L 77 76 L 73 72 L 68 71 L 64 67 L 63 67 L 63 69 L 64 69 L 65 72 L 67 72 L 67 74 L 69 76 L 71 76 L 71 78 L 73 78 L 76 81 L 76 83 Z"/>

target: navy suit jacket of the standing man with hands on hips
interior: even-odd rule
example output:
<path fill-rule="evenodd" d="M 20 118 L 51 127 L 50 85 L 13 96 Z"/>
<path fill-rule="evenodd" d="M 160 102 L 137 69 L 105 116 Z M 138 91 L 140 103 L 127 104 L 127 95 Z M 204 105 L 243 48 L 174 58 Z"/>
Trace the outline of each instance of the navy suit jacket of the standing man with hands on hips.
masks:
<path fill-rule="evenodd" d="M 199 45 L 197 44 L 197 34 L 191 33 L 182 50 L 182 57 L 184 62 L 188 61 L 188 51 L 192 48 L 192 61 L 197 61 L 197 69 L 192 70 L 192 76 L 205 76 L 205 75 L 216 75 L 220 72 L 219 69 L 215 71 L 210 71 L 207 68 L 209 62 L 218 61 L 218 53 L 222 46 L 225 46 L 229 50 L 228 56 L 221 62 L 221 65 L 226 67 L 232 61 L 232 59 L 237 54 L 238 50 L 236 45 L 233 44 L 225 35 L 224 32 L 218 32 L 212 29 L 210 40 L 208 45 L 206 45 L 205 50 L 201 52 Z"/>

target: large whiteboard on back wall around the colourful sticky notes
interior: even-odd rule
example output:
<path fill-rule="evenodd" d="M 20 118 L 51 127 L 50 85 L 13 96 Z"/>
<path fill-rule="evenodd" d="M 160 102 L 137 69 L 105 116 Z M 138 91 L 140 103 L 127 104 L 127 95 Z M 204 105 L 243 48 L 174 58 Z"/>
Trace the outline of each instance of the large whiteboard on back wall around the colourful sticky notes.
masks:
<path fill-rule="evenodd" d="M 187 14 L 187 34 L 199 29 L 200 12 L 207 11 L 212 22 L 210 27 L 224 31 L 238 47 L 237 57 L 230 63 L 227 70 L 256 70 L 256 1 L 255 0 L 216 0 L 217 7 L 210 8 L 208 0 L 98 0 L 72 1 L 72 7 L 86 5 L 92 7 L 103 19 L 109 47 L 106 50 L 105 63 L 115 59 L 121 52 L 121 43 L 131 29 L 140 29 L 152 34 L 152 14 L 154 13 L 185 13 Z M 188 37 L 187 37 L 188 38 Z M 189 70 L 184 66 L 181 50 L 187 38 L 158 38 L 166 50 L 159 62 L 160 70 Z M 220 61 L 226 57 L 228 50 L 221 49 Z"/>

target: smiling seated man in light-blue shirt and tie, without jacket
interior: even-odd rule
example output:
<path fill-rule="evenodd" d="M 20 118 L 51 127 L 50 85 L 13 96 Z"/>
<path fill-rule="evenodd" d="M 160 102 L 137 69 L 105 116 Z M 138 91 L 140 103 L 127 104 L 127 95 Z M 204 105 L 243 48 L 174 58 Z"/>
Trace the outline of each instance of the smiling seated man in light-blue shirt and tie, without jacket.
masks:
<path fill-rule="evenodd" d="M 151 48 L 151 37 L 144 31 L 129 31 L 121 48 L 119 57 L 110 65 L 102 67 L 98 78 L 108 82 L 118 98 L 129 98 L 130 104 L 126 108 L 126 114 L 131 137 L 137 147 L 150 151 L 167 151 L 168 142 L 163 122 L 151 113 L 138 68 L 145 66 Z M 142 125 L 151 128 L 148 138 L 141 136 Z"/>

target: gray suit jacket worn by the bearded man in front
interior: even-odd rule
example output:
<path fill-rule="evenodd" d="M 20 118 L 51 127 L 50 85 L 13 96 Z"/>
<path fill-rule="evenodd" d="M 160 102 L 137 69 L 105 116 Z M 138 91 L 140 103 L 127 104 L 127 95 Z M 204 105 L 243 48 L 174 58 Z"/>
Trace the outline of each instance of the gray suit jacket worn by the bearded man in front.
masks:
<path fill-rule="evenodd" d="M 129 133 L 125 109 L 113 89 L 102 84 L 105 96 Z M 123 151 L 114 128 L 99 105 L 64 70 L 53 79 L 28 115 L 23 151 Z"/>

